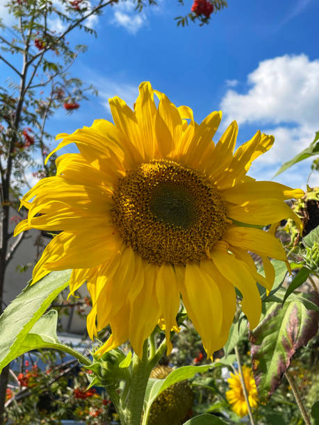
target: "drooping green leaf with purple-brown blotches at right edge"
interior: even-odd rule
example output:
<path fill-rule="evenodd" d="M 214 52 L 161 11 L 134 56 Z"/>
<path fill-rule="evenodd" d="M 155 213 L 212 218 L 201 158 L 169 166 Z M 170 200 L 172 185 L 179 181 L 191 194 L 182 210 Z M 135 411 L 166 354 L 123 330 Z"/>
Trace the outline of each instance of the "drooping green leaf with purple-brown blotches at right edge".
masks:
<path fill-rule="evenodd" d="M 318 293 L 308 295 L 309 301 L 319 306 Z M 301 301 L 286 301 L 282 308 L 272 303 L 250 332 L 252 368 L 261 403 L 280 385 L 295 351 L 316 335 L 318 318 L 318 311 L 307 310 Z"/>

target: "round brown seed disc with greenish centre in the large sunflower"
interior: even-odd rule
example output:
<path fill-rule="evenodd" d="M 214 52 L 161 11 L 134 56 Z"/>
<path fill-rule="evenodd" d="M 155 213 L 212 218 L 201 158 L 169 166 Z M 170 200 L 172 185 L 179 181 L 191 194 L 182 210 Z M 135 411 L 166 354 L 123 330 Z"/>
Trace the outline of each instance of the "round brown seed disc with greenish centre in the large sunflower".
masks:
<path fill-rule="evenodd" d="M 158 265 L 207 258 L 227 226 L 226 208 L 208 178 L 170 160 L 127 172 L 114 201 L 113 222 L 126 244 Z"/>

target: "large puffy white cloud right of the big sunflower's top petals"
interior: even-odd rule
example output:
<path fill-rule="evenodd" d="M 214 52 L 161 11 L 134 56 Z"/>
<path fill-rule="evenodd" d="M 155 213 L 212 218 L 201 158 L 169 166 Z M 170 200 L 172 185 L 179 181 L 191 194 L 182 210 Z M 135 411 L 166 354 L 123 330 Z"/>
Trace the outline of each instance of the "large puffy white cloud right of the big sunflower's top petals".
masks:
<path fill-rule="evenodd" d="M 263 60 L 247 76 L 247 84 L 244 94 L 227 90 L 224 95 L 224 125 L 236 119 L 238 124 L 256 124 L 256 129 L 275 135 L 272 149 L 250 172 L 256 178 L 271 178 L 282 163 L 309 145 L 319 129 L 319 60 L 311 61 L 304 54 Z M 295 165 L 277 181 L 294 185 L 302 175 L 305 184 L 310 163 Z"/>

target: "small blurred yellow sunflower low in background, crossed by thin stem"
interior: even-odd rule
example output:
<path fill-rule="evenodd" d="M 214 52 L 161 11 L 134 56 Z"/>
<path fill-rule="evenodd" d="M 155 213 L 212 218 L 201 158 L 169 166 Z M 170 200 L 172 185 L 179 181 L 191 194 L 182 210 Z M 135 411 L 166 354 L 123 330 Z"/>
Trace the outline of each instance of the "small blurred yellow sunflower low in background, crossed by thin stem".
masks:
<path fill-rule="evenodd" d="M 252 374 L 252 369 L 250 367 L 243 365 L 242 369 L 250 407 L 254 409 L 257 407 L 258 402 L 254 375 Z M 243 387 L 240 383 L 239 372 L 231 374 L 231 378 L 228 379 L 228 383 L 230 390 L 226 392 L 226 397 L 229 403 L 233 405 L 231 408 L 234 410 L 236 415 L 240 417 L 247 415 L 248 406 L 243 393 Z"/>

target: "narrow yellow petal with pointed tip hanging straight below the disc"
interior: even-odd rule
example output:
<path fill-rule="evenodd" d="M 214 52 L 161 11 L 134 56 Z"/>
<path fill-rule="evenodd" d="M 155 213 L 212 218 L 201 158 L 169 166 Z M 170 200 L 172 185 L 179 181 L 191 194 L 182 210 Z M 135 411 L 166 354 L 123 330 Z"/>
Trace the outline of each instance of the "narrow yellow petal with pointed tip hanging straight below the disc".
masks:
<path fill-rule="evenodd" d="M 167 297 L 167 294 L 170 294 Z M 167 356 L 172 351 L 170 331 L 176 328 L 176 316 L 179 312 L 179 288 L 177 285 L 172 265 L 161 265 L 156 276 L 156 295 L 165 320 L 165 338 L 167 344 Z"/>

